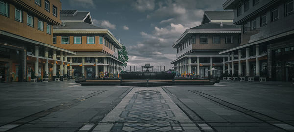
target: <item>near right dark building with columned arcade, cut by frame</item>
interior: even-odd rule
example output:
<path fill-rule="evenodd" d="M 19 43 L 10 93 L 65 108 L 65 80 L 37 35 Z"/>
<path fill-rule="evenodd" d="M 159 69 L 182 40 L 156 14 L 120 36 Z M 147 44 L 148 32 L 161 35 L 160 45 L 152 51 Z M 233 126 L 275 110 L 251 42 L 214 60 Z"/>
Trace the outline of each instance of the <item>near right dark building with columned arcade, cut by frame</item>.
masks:
<path fill-rule="evenodd" d="M 234 10 L 234 24 L 242 26 L 239 46 L 220 55 L 238 56 L 239 76 L 294 78 L 294 0 L 227 0 L 224 9 Z"/>

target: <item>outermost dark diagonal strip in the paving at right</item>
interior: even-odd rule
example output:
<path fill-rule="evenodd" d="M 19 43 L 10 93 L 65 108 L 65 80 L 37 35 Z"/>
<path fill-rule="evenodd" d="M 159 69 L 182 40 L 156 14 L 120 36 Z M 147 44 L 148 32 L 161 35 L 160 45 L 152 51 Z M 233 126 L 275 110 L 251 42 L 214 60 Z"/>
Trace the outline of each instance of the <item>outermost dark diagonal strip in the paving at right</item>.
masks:
<path fill-rule="evenodd" d="M 220 99 L 220 98 L 217 98 L 217 97 L 214 97 L 214 96 L 211 96 L 211 95 L 209 95 L 209 94 L 205 94 L 205 93 L 203 93 L 203 92 L 200 92 L 200 91 L 196 91 L 196 90 L 188 90 L 188 91 L 190 91 L 190 92 L 192 92 L 192 93 L 194 93 L 194 94 L 197 94 L 197 95 L 199 95 L 199 96 L 201 96 L 201 97 L 204 97 L 204 98 L 207 98 L 207 99 L 209 99 L 209 100 L 211 100 L 211 101 L 213 101 L 213 102 L 216 102 L 216 103 L 218 103 L 218 104 L 220 104 L 220 105 L 222 105 L 222 106 L 225 106 L 225 107 L 227 107 L 227 108 L 230 108 L 230 109 L 232 109 L 232 110 L 235 110 L 235 111 L 238 111 L 238 112 L 241 112 L 241 113 L 243 113 L 243 114 L 246 114 L 246 115 L 248 115 L 248 116 L 251 116 L 251 117 L 253 117 L 253 118 L 256 118 L 256 119 L 258 119 L 258 120 L 260 120 L 260 121 L 262 121 L 262 122 L 265 122 L 265 123 L 268 123 L 268 124 L 270 124 L 270 125 L 272 125 L 272 126 L 275 126 L 275 127 L 278 127 L 278 128 L 281 128 L 281 129 L 284 129 L 284 130 L 286 130 L 286 131 L 288 131 L 288 130 L 292 130 L 292 128 L 294 129 L 294 126 L 292 126 L 292 125 L 290 125 L 290 124 L 288 124 L 288 123 L 286 123 L 286 122 L 284 122 L 284 121 L 281 121 L 281 120 L 279 120 L 279 119 L 275 119 L 275 118 L 273 118 L 273 117 L 270 117 L 270 116 L 268 116 L 268 115 L 265 115 L 265 114 L 262 114 L 262 113 L 259 113 L 259 112 L 256 112 L 256 111 L 253 111 L 253 110 L 249 110 L 249 109 L 246 109 L 246 108 L 244 108 L 244 107 L 241 107 L 241 106 L 238 106 L 238 105 L 235 105 L 235 104 L 232 104 L 232 103 L 230 103 L 230 102 L 227 102 L 227 101 L 225 101 L 225 100 L 222 100 L 222 99 Z M 225 105 L 226 104 L 226 105 Z M 247 113 L 248 112 L 248 113 Z M 250 113 L 250 114 L 249 114 Z M 256 115 L 253 115 L 253 113 L 256 113 Z M 261 117 L 262 116 L 262 117 Z M 271 119 L 271 120 L 266 120 L 266 119 Z M 273 121 L 272 121 L 273 120 Z M 275 125 L 274 123 L 272 123 L 272 122 L 278 122 L 278 123 L 275 123 L 275 124 L 279 124 L 279 125 Z M 287 127 L 285 127 L 285 125 L 287 125 Z M 285 128 L 287 128 L 287 129 L 285 129 Z M 291 128 L 291 129 L 289 129 L 289 128 Z M 290 131 L 288 131 L 288 132 L 290 132 Z"/>

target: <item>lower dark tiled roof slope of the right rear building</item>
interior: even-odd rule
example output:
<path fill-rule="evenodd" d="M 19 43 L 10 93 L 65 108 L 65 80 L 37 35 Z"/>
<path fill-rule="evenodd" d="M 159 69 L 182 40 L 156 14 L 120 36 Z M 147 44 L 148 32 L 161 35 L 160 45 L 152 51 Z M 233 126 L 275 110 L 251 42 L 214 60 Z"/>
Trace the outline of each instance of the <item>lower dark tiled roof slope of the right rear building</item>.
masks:
<path fill-rule="evenodd" d="M 234 25 L 231 22 L 223 22 L 221 27 L 221 22 L 205 23 L 191 29 L 232 29 L 232 28 L 241 28 L 241 25 Z"/>

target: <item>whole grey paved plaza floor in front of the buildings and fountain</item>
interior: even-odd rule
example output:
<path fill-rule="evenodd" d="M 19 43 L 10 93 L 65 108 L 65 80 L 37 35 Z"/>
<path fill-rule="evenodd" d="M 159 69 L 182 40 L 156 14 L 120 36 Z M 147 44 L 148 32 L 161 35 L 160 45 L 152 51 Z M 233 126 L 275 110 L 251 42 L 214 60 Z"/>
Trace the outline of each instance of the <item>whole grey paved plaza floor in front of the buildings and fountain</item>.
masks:
<path fill-rule="evenodd" d="M 294 132 L 294 85 L 1 83 L 0 132 Z"/>

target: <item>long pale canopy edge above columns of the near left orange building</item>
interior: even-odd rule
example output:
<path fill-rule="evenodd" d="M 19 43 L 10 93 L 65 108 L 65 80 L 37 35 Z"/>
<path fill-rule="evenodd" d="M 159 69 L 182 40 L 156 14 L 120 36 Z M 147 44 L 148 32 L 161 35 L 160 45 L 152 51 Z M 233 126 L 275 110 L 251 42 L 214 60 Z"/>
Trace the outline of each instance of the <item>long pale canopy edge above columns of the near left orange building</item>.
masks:
<path fill-rule="evenodd" d="M 49 44 L 45 44 L 45 43 L 42 43 L 42 42 L 38 42 L 38 41 L 31 40 L 31 39 L 27 39 L 25 37 L 18 36 L 18 35 L 15 35 L 15 34 L 11 34 L 11 33 L 5 32 L 5 31 L 0 31 L 0 34 L 1 35 L 5 35 L 5 36 L 9 36 L 9 37 L 12 37 L 12 38 L 15 38 L 15 39 L 18 39 L 18 40 L 26 41 L 26 42 L 29 42 L 29 43 L 32 43 L 32 44 L 35 44 L 35 45 L 48 47 L 48 48 L 51 48 L 53 50 L 62 51 L 62 52 L 68 53 L 68 54 L 73 54 L 73 55 L 76 54 L 73 51 L 69 51 L 69 50 L 66 50 L 66 49 L 63 49 L 63 48 L 59 48 L 59 47 L 55 47 L 55 46 L 52 46 L 52 45 L 49 45 Z"/>

